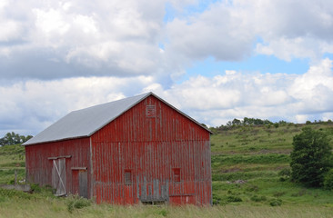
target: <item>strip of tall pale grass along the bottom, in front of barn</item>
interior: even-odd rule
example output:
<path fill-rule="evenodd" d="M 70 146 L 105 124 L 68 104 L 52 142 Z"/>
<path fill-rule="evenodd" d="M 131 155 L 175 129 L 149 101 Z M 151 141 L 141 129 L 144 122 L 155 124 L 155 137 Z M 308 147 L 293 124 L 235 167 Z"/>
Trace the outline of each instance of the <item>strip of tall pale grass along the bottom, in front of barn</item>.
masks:
<path fill-rule="evenodd" d="M 270 206 L 269 203 L 256 202 L 213 207 L 96 205 L 76 196 L 55 198 L 47 192 L 45 189 L 42 193 L 0 189 L 0 217 L 332 217 L 333 209 L 332 204 Z"/>

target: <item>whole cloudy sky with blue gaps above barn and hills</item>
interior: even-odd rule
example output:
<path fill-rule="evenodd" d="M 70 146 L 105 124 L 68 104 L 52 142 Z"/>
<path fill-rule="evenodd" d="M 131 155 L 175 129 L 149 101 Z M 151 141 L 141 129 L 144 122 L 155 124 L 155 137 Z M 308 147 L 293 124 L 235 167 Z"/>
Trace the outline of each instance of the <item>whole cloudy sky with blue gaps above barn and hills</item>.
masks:
<path fill-rule="evenodd" d="M 208 126 L 333 120 L 331 0 L 1 0 L 0 136 L 153 92 Z"/>

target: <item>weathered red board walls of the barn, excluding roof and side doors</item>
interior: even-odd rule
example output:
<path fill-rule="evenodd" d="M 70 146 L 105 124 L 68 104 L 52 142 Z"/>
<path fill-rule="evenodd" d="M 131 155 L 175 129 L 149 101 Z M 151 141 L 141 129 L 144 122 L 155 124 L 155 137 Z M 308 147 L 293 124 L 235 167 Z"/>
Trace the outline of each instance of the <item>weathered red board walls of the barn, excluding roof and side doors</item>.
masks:
<path fill-rule="evenodd" d="M 47 157 L 71 155 L 68 193 L 78 192 L 71 168 L 86 167 L 88 197 L 97 203 L 212 203 L 209 137 L 207 129 L 149 95 L 90 137 L 25 146 L 27 179 L 50 184 Z"/>

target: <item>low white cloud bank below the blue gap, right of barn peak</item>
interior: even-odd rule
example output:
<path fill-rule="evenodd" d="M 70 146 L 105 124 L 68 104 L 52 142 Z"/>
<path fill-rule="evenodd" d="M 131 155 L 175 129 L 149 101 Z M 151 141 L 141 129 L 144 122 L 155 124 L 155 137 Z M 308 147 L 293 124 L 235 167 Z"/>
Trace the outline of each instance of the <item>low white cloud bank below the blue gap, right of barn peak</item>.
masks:
<path fill-rule="evenodd" d="M 212 78 L 199 75 L 168 90 L 155 86 L 181 110 L 209 125 L 233 118 L 273 121 L 328 120 L 333 111 L 332 60 L 312 65 L 305 74 L 227 72 Z"/>

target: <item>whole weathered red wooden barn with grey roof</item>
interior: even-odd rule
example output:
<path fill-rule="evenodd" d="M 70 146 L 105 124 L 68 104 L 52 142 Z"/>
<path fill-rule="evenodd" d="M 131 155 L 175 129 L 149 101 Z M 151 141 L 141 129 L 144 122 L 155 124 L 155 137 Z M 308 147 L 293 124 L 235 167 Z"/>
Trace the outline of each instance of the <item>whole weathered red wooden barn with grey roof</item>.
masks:
<path fill-rule="evenodd" d="M 207 127 L 147 93 L 77 110 L 25 142 L 26 180 L 96 203 L 212 203 Z"/>

